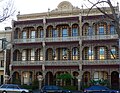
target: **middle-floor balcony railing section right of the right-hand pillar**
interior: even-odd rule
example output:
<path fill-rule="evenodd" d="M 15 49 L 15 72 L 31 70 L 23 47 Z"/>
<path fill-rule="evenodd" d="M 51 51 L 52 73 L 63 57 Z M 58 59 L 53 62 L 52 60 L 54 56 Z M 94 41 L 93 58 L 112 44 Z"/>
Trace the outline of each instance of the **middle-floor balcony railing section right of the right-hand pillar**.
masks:
<path fill-rule="evenodd" d="M 120 65 L 120 59 L 116 60 L 83 60 L 83 65 L 114 65 L 118 64 Z"/>

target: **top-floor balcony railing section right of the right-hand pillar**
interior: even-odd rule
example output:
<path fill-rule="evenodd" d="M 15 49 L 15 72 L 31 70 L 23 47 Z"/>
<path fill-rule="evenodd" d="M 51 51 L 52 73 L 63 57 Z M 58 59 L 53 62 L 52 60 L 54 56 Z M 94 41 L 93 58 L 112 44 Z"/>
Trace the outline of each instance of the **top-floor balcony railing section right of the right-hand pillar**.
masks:
<path fill-rule="evenodd" d="M 91 35 L 82 36 L 82 40 L 102 40 L 102 39 L 118 39 L 118 35 Z"/>

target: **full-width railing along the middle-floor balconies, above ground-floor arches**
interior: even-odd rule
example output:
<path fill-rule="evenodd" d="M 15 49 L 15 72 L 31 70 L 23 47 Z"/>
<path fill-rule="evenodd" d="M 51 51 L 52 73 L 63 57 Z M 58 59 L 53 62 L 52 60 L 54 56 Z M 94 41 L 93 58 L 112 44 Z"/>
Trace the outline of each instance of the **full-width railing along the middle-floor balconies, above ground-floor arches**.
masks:
<path fill-rule="evenodd" d="M 59 61 L 13 61 L 12 65 L 14 66 L 31 66 L 31 65 L 45 65 L 45 66 L 68 66 L 68 65 L 113 65 L 113 64 L 120 64 L 120 60 L 59 60 Z"/>

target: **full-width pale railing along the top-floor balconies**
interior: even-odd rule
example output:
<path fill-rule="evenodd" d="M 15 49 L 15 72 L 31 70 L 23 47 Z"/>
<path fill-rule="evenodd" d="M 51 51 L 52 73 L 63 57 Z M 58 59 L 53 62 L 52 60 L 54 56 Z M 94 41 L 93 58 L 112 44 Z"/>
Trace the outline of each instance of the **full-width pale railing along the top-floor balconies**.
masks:
<path fill-rule="evenodd" d="M 118 39 L 118 35 L 91 35 L 91 36 L 75 36 L 75 37 L 51 37 L 45 38 L 45 42 L 64 42 L 64 41 L 79 41 L 82 40 L 102 40 L 102 39 Z M 14 43 L 34 43 L 43 42 L 43 38 L 24 38 L 14 39 Z"/>

